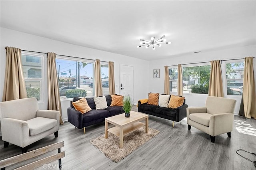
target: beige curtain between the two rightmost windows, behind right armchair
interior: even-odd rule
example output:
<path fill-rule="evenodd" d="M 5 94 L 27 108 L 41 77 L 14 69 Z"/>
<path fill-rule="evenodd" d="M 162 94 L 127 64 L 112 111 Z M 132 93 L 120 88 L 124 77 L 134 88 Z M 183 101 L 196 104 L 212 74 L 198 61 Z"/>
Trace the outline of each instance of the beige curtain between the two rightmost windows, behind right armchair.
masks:
<path fill-rule="evenodd" d="M 220 60 L 211 61 L 208 96 L 224 97 Z"/>

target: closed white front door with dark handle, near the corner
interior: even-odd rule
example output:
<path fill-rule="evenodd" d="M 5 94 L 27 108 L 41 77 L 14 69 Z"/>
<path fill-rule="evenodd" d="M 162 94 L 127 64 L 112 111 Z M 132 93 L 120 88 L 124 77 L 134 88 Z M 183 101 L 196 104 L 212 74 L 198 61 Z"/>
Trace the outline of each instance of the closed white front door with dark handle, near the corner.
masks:
<path fill-rule="evenodd" d="M 133 67 L 120 65 L 120 95 L 130 95 L 133 103 Z"/>

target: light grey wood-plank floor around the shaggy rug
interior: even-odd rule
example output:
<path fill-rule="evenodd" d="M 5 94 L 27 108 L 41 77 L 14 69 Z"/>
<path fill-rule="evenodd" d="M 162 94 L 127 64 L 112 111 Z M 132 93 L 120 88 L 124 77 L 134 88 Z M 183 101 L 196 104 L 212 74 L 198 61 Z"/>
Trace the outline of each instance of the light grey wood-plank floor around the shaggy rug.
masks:
<path fill-rule="evenodd" d="M 136 106 L 133 107 L 133 111 L 138 111 Z M 28 151 L 64 140 L 63 170 L 256 169 L 252 162 L 236 154 L 238 149 L 256 153 L 255 119 L 235 116 L 232 137 L 228 138 L 227 134 L 216 136 L 215 143 L 210 141 L 208 134 L 194 127 L 188 130 L 186 120 L 182 120 L 181 124 L 175 122 L 172 128 L 172 121 L 150 116 L 149 127 L 159 130 L 160 133 L 117 163 L 112 162 L 89 142 L 90 139 L 104 134 L 104 123 L 86 127 L 86 134 L 84 134 L 82 129 L 77 129 L 65 122 L 60 126 L 58 138 L 51 134 L 31 144 Z M 256 160 L 256 156 L 252 154 L 240 153 L 251 160 Z M 13 144 L 4 148 L 1 140 L 0 154 L 0 159 L 3 160 L 21 154 L 21 149 Z M 57 165 L 58 161 L 53 164 Z M 17 166 L 6 168 L 6 170 L 15 167 Z M 46 166 L 38 169 L 45 168 Z M 57 166 L 50 168 L 57 168 Z"/>

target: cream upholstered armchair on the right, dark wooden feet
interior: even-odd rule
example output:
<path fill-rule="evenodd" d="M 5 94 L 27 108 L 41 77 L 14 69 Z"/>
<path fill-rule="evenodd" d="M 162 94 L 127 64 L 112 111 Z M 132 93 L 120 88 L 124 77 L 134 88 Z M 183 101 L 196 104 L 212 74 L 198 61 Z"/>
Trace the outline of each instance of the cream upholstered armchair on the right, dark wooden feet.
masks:
<path fill-rule="evenodd" d="M 231 137 L 235 105 L 236 100 L 208 96 L 205 107 L 187 108 L 188 130 L 192 126 L 210 134 L 213 143 L 219 134 L 227 133 Z"/>

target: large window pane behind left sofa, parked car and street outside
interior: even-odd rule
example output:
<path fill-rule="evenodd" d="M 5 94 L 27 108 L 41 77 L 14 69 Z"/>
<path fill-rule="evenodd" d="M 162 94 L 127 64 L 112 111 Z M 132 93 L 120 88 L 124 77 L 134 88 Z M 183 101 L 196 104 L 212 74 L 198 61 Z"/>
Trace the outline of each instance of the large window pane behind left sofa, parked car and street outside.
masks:
<path fill-rule="evenodd" d="M 56 58 L 60 99 L 93 96 L 94 63 Z M 94 87 L 93 87 L 94 88 Z"/>

